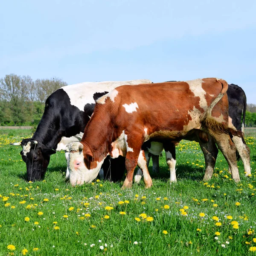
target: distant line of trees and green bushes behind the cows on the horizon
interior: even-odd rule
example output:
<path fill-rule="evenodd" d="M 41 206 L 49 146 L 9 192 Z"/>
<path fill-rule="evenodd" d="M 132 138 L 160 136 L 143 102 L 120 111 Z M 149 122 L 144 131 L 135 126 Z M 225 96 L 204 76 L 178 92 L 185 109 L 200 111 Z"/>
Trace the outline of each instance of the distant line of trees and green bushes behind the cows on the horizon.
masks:
<path fill-rule="evenodd" d="M 33 79 L 6 75 L 0 79 L 0 125 L 38 125 L 47 97 L 67 85 L 59 78 Z M 256 105 L 247 104 L 247 127 L 256 127 Z"/>

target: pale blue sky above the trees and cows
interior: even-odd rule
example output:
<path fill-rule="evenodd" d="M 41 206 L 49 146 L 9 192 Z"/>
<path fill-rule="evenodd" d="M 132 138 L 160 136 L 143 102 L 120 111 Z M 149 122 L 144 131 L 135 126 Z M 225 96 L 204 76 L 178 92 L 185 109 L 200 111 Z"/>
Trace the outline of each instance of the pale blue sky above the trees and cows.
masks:
<path fill-rule="evenodd" d="M 0 77 L 219 77 L 256 104 L 256 1 L 1 1 Z"/>

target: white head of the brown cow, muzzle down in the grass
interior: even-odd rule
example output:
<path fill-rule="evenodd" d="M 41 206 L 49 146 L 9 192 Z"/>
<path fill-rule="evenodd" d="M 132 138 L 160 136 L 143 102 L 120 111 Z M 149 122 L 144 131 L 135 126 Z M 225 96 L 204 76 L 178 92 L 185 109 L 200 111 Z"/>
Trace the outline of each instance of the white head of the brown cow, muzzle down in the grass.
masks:
<path fill-rule="evenodd" d="M 100 162 L 93 160 L 90 148 L 83 154 L 84 146 L 80 142 L 70 143 L 67 167 L 70 172 L 70 183 L 76 184 L 92 182 L 99 174 L 104 159 Z"/>

